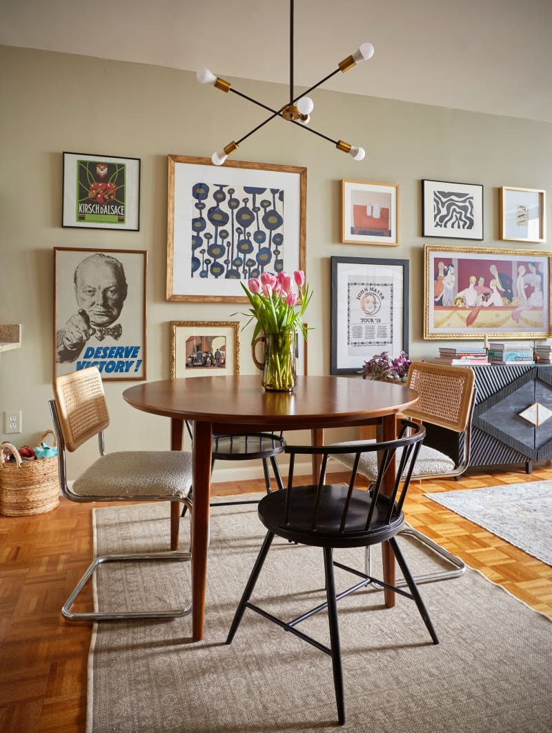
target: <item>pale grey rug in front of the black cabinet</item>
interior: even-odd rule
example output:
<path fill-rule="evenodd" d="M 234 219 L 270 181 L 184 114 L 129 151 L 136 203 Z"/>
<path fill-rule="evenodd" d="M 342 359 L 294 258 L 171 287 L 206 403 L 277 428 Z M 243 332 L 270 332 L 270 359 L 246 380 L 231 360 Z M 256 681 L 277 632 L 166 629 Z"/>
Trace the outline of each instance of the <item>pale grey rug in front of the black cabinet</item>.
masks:
<path fill-rule="evenodd" d="M 552 481 L 439 491 L 425 496 L 552 565 Z"/>

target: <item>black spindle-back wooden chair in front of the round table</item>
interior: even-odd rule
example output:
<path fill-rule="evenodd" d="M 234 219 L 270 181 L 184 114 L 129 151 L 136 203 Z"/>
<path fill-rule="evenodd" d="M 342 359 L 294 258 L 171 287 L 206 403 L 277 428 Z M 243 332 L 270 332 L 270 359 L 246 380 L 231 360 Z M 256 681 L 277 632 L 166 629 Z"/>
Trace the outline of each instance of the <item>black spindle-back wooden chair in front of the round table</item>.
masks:
<path fill-rule="evenodd" d="M 265 619 L 276 623 L 295 634 L 295 636 L 302 638 L 303 641 L 307 641 L 312 646 L 330 655 L 334 671 L 334 688 L 340 725 L 345 722 L 345 699 L 343 695 L 339 627 L 337 624 L 337 600 L 371 584 L 392 589 L 416 603 L 433 644 L 438 644 L 437 634 L 427 614 L 422 597 L 420 597 L 416 583 L 395 539 L 395 535 L 404 524 L 402 504 L 405 501 L 413 466 L 424 435 L 425 429 L 423 426 L 410 420 L 403 420 L 400 435 L 394 441 L 356 443 L 354 446 L 353 468 L 348 485 L 325 485 L 324 478 L 328 457 L 347 451 L 350 452 L 350 445 L 286 446 L 284 451 L 290 454 L 287 491 L 275 491 L 268 494 L 268 496 L 264 496 L 259 503 L 259 518 L 268 529 L 268 533 L 249 576 L 238 609 L 235 612 L 228 633 L 227 644 L 232 642 L 246 608 L 250 608 L 251 611 L 264 616 Z M 379 462 L 377 479 L 369 491 L 354 487 L 358 463 L 361 456 L 367 452 L 377 452 Z M 397 458 L 394 460 L 396 453 Z M 293 466 L 295 455 L 298 454 L 322 456 L 320 479 L 317 485 L 293 486 Z M 393 488 L 387 496 L 386 493 L 383 493 L 383 480 L 391 471 L 393 471 Z M 327 600 L 289 622 L 284 622 L 269 614 L 268 611 L 250 603 L 249 600 L 275 535 L 290 542 L 323 548 Z M 389 586 L 371 575 L 354 570 L 333 559 L 334 548 L 367 547 L 381 542 L 389 542 L 405 577 L 408 591 L 399 589 L 397 586 Z M 334 565 L 360 576 L 362 580 L 336 595 Z M 325 608 L 328 608 L 330 647 L 320 644 L 319 641 L 296 628 L 298 623 L 319 611 L 323 611 Z"/>

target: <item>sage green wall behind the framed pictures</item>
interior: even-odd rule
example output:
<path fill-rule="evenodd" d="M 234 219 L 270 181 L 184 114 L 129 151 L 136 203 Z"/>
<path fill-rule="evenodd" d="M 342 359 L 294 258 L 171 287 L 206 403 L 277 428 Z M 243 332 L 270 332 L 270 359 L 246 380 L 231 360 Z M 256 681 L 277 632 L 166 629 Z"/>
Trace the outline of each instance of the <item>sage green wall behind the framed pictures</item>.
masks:
<path fill-rule="evenodd" d="M 253 128 L 264 113 L 236 95 L 200 86 L 191 72 L 10 47 L 0 47 L 0 63 L 0 323 L 23 324 L 21 349 L 0 356 L 0 410 L 23 410 L 23 434 L 11 436 L 21 445 L 34 444 L 50 424 L 54 246 L 147 249 L 148 380 L 169 377 L 170 320 L 227 320 L 235 312 L 232 303 L 165 300 L 166 156 L 210 156 Z M 234 83 L 271 106 L 287 96 L 276 84 Z M 422 339 L 420 180 L 482 183 L 484 244 L 504 246 L 498 240 L 498 187 L 552 192 L 552 125 L 336 92 L 317 91 L 314 102 L 312 124 L 328 136 L 363 145 L 364 161 L 356 163 L 279 119 L 234 156 L 308 169 L 306 271 L 314 290 L 309 373 L 329 372 L 331 255 L 411 261 L 410 351 L 415 358 L 431 356 L 438 344 Z M 141 158 L 139 232 L 62 228 L 64 150 Z M 339 243 L 342 178 L 400 184 L 400 246 Z M 455 242 L 469 245 L 444 243 Z M 255 371 L 246 334 L 240 371 Z M 106 383 L 108 449 L 165 449 L 169 421 L 126 405 L 121 393 L 130 384 Z M 73 457 L 70 477 L 92 460 L 94 448 Z"/>

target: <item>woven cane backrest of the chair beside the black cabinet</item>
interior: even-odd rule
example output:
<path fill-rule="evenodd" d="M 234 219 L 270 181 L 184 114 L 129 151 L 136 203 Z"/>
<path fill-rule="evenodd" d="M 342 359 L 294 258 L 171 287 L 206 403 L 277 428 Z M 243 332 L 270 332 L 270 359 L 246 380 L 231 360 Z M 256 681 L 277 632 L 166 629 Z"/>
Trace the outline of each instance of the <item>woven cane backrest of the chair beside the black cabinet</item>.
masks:
<path fill-rule="evenodd" d="M 407 386 L 419 393 L 419 400 L 405 414 L 414 420 L 464 432 L 470 416 L 474 380 L 474 371 L 468 367 L 415 361 L 408 369 Z"/>

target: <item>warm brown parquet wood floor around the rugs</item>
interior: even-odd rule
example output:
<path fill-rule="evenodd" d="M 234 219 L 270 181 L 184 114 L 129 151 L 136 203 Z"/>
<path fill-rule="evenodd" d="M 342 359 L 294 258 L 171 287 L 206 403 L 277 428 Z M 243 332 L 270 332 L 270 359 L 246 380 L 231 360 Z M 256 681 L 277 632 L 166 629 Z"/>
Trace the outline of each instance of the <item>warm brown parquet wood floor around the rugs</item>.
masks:
<path fill-rule="evenodd" d="M 552 467 L 467 474 L 459 482 L 414 482 L 406 515 L 468 565 L 552 616 L 552 568 L 425 498 L 446 491 L 552 479 Z M 262 481 L 215 485 L 228 495 Z M 0 732 L 81 733 L 85 727 L 90 625 L 60 608 L 92 557 L 92 505 L 62 499 L 54 512 L 0 517 Z M 454 581 L 449 581 L 454 582 Z"/>

